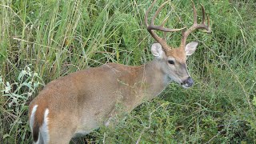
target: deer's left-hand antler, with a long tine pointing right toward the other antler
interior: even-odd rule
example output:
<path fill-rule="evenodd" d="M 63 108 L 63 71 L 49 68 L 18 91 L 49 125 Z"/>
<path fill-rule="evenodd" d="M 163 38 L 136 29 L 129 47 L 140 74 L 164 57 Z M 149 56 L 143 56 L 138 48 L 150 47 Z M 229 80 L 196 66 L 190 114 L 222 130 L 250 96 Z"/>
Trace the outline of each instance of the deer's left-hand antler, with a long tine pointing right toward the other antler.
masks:
<path fill-rule="evenodd" d="M 156 2 L 157 0 L 154 0 L 154 2 L 150 5 L 149 9 L 146 10 L 146 14 L 145 14 L 145 23 L 146 23 L 146 29 L 150 32 L 150 34 L 152 35 L 152 37 L 157 41 L 159 42 L 161 45 L 162 45 L 162 48 L 165 50 L 165 51 L 168 51 L 170 50 L 170 46 L 167 45 L 166 41 L 163 39 L 163 38 L 160 38 L 158 36 L 158 34 L 154 33 L 153 30 L 161 30 L 161 31 L 164 31 L 164 32 L 174 32 L 174 31 L 179 31 L 179 30 L 183 30 L 185 29 L 185 27 L 181 28 L 181 29 L 169 29 L 169 28 L 166 28 L 164 27 L 164 24 L 166 23 L 167 21 L 167 18 L 166 17 L 161 26 L 155 26 L 154 25 L 154 19 L 158 16 L 160 10 L 162 10 L 162 7 L 166 5 L 166 2 L 164 2 L 159 8 L 158 10 L 155 12 L 153 18 L 151 19 L 151 22 L 150 22 L 150 25 L 147 23 L 148 20 L 147 20 L 147 15 L 149 14 L 150 10 L 152 9 L 152 7 L 154 6 L 154 3 Z"/>

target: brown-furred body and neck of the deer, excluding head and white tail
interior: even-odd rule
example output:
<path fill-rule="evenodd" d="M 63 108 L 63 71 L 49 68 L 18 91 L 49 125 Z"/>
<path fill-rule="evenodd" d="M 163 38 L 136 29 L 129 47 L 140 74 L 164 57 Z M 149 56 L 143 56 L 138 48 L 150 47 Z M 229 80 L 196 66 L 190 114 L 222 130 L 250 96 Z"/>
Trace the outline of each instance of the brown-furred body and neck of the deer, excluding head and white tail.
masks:
<path fill-rule="evenodd" d="M 50 82 L 30 103 L 30 114 L 38 105 L 34 141 L 38 138 L 38 126 L 42 126 L 46 109 L 49 109 L 50 143 L 59 142 L 63 137 L 69 142 L 67 139 L 76 131 L 90 133 L 118 114 L 117 104 L 130 111 L 144 99 L 154 98 L 166 86 L 158 81 L 162 74 L 158 74 L 156 64 L 124 66 L 110 63 Z"/>

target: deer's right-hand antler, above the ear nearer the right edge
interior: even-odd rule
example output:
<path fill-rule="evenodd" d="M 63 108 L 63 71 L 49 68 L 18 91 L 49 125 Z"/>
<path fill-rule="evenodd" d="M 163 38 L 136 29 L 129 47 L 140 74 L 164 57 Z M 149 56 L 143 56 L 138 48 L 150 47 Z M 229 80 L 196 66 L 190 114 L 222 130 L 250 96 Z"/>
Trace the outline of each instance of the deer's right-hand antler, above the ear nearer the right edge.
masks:
<path fill-rule="evenodd" d="M 190 35 L 190 33 L 197 29 L 205 29 L 207 33 L 210 33 L 210 18 L 209 15 L 207 15 L 207 21 L 208 26 L 206 26 L 206 14 L 205 14 L 205 8 L 202 6 L 202 23 L 198 24 L 197 22 L 197 10 L 195 9 L 194 2 L 192 2 L 193 5 L 193 11 L 194 11 L 194 24 L 186 31 L 182 33 L 182 41 L 181 41 L 181 47 L 186 45 L 186 38 Z"/>

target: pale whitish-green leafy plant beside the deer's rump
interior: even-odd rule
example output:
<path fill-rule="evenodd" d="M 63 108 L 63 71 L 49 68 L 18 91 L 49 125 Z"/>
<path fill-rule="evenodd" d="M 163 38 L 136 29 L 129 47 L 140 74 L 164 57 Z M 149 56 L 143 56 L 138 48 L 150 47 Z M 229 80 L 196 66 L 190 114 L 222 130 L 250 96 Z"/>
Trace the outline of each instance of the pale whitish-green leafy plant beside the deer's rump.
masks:
<path fill-rule="evenodd" d="M 27 110 L 28 103 L 32 96 L 37 93 L 38 87 L 44 86 L 42 78 L 38 77 L 38 73 L 30 70 L 30 66 L 25 68 L 18 74 L 17 82 L 6 82 L 0 76 L 0 86 L 4 103 L 2 106 L 1 130 L 3 132 L 3 142 L 27 142 L 25 131 L 30 131 L 27 126 Z M 24 115 L 26 114 L 26 115 Z M 7 119 L 5 119 L 7 118 Z M 23 130 L 21 130 L 23 129 Z M 16 137 L 10 138 L 15 134 Z M 9 140 L 6 140 L 10 138 Z"/>

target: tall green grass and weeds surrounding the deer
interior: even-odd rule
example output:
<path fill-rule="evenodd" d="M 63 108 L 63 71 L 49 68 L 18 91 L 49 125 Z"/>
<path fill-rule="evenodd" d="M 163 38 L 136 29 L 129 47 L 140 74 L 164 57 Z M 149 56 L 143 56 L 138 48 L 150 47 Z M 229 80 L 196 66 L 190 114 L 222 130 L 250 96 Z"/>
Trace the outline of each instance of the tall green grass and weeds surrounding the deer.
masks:
<path fill-rule="evenodd" d="M 256 3 L 200 0 L 197 8 L 199 2 L 210 14 L 212 33 L 198 31 L 187 40 L 199 42 L 188 60 L 194 87 L 170 84 L 114 128 L 78 142 L 256 143 Z M 154 39 L 143 20 L 149 6 L 147 0 L 1 1 L 0 142 L 31 142 L 28 105 L 45 83 L 106 62 L 152 60 Z M 192 24 L 190 1 L 169 2 L 157 22 L 166 14 L 168 27 Z M 167 34 L 172 46 L 180 38 Z"/>

